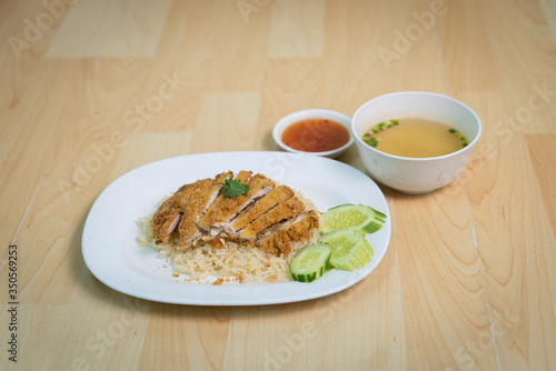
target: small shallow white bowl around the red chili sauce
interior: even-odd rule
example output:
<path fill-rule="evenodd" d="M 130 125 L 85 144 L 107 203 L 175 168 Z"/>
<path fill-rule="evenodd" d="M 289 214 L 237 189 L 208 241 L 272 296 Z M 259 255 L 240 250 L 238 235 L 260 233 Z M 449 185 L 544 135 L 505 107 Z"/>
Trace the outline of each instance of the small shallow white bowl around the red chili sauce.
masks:
<path fill-rule="evenodd" d="M 308 120 L 308 119 L 325 119 L 325 120 L 331 120 L 336 121 L 338 123 L 341 123 L 348 131 L 349 133 L 349 141 L 344 144 L 340 148 L 337 148 L 331 151 L 326 151 L 326 152 L 307 152 L 307 151 L 299 151 L 296 149 L 292 149 L 291 147 L 286 146 L 281 137 L 284 134 L 284 130 L 291 126 L 292 123 L 302 121 L 302 120 Z M 336 158 L 344 153 L 349 146 L 354 143 L 354 134 L 351 133 L 351 119 L 347 117 L 344 113 L 337 112 L 337 111 L 331 111 L 331 110 L 324 110 L 324 109 L 309 109 L 309 110 L 301 110 L 301 111 L 296 111 L 292 113 L 289 113 L 278 120 L 278 122 L 275 124 L 275 128 L 272 129 L 272 138 L 275 142 L 280 146 L 284 150 L 294 152 L 294 153 L 305 153 L 305 154 L 314 154 L 314 156 L 321 156 L 326 158 Z"/>

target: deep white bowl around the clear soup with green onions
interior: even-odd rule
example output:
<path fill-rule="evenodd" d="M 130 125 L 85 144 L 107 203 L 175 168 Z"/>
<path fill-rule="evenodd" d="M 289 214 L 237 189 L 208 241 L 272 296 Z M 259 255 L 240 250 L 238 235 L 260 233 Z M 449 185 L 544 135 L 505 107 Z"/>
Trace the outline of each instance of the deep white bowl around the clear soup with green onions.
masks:
<path fill-rule="evenodd" d="M 431 158 L 406 158 L 366 144 L 361 136 L 381 121 L 418 117 L 440 121 L 461 132 L 469 144 L 456 152 Z M 467 166 L 481 124 L 466 104 L 447 96 L 403 91 L 364 103 L 351 119 L 351 131 L 365 168 L 380 183 L 404 193 L 427 193 L 451 183 Z"/>

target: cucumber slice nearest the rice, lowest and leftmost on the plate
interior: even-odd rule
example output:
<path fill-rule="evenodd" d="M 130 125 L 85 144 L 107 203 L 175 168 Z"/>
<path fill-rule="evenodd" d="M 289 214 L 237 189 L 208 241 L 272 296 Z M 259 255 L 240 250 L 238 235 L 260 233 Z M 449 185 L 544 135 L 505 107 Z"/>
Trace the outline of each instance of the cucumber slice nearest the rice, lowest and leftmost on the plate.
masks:
<path fill-rule="evenodd" d="M 299 250 L 289 264 L 291 278 L 299 282 L 312 282 L 321 277 L 328 267 L 330 251 L 330 247 L 324 242 Z"/>

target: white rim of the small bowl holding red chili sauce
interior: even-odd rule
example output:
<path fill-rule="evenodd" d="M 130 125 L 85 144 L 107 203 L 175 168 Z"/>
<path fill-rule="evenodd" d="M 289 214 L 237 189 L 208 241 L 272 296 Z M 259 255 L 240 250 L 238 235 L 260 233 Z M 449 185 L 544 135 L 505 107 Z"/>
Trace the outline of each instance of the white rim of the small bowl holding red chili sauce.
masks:
<path fill-rule="evenodd" d="M 348 134 L 349 134 L 349 140 L 346 144 L 341 146 L 341 147 L 338 147 L 334 150 L 330 150 L 330 151 L 324 151 L 324 152 L 309 152 L 309 151 L 300 151 L 300 150 L 296 150 L 291 147 L 288 147 L 286 146 L 282 140 L 281 140 L 281 133 L 284 132 L 284 130 L 296 123 L 297 121 L 300 121 L 302 119 L 299 119 L 299 120 L 292 120 L 295 117 L 297 116 L 305 116 L 305 114 L 315 114 L 316 118 L 327 118 L 327 119 L 330 119 L 330 120 L 334 120 L 338 123 L 340 123 L 342 127 L 346 128 Z M 344 122 L 340 122 L 337 118 L 340 118 L 340 120 L 342 120 Z M 289 123 L 285 123 L 286 121 L 288 120 L 291 120 L 291 122 Z M 272 128 L 272 138 L 275 140 L 275 142 L 280 147 L 282 148 L 284 150 L 286 151 L 289 151 L 289 152 L 292 152 L 292 153 L 302 153 L 302 154 L 311 154 L 311 156 L 322 156 L 322 157 L 328 157 L 328 156 L 332 156 L 332 154 L 336 154 L 336 153 L 340 153 L 340 152 L 344 152 L 346 151 L 351 144 L 354 144 L 355 142 L 355 136 L 354 136 L 354 132 L 351 130 L 351 118 L 345 113 L 341 113 L 341 112 L 338 112 L 338 111 L 334 111 L 334 110 L 329 110 L 329 109 L 324 109 L 324 108 L 309 108 L 309 109 L 304 109 L 304 110 L 299 110 L 299 111 L 294 111 L 294 112 L 290 112 L 284 117 L 281 117 L 278 121 L 276 121 L 274 128 Z"/>

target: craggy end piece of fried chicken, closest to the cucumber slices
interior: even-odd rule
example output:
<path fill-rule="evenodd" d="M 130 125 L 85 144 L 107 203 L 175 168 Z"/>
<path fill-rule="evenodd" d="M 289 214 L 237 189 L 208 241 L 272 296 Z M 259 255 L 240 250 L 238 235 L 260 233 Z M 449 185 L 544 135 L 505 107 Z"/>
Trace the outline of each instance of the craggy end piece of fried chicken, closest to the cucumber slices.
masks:
<path fill-rule="evenodd" d="M 256 245 L 264 251 L 287 255 L 294 242 L 307 242 L 311 231 L 318 227 L 319 219 L 315 210 L 305 211 L 289 222 L 264 232 Z"/>

